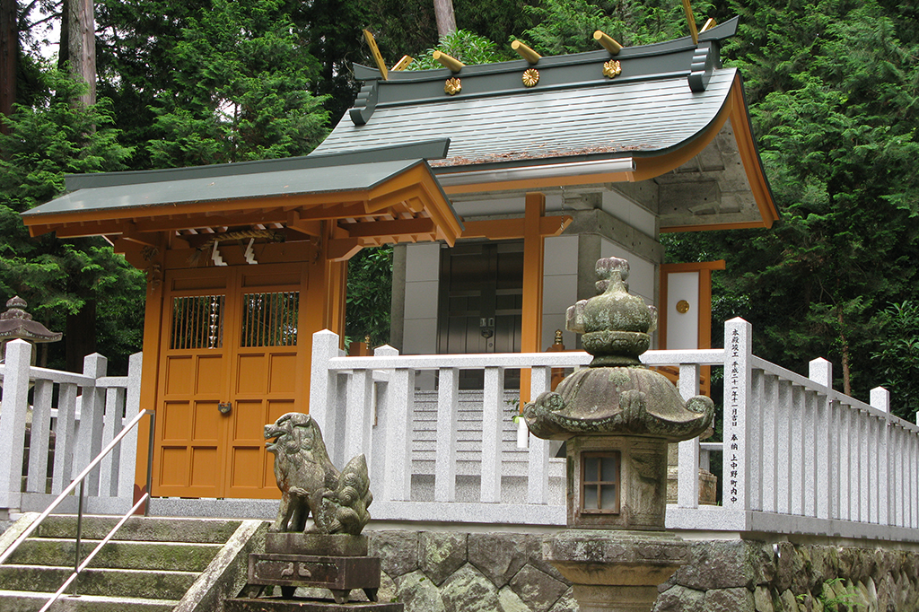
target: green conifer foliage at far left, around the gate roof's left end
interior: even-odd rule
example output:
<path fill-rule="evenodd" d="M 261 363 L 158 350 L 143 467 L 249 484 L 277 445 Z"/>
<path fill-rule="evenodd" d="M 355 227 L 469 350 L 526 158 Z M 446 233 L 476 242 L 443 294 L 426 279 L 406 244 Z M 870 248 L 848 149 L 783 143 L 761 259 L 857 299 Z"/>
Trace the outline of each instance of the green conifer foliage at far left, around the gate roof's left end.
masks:
<path fill-rule="evenodd" d="M 37 321 L 61 332 L 73 329 L 88 305 L 102 315 L 98 345 L 113 369 L 123 369 L 140 346 L 142 274 L 101 238 L 30 238 L 19 213 L 60 193 L 64 174 L 124 168 L 130 149 L 117 142 L 107 104 L 74 108 L 69 100 L 78 85 L 51 68 L 40 77 L 31 106 L 18 106 L 5 119 L 10 133 L 0 134 L 0 295 L 19 295 Z M 64 365 L 64 346 L 48 347 L 52 364 Z M 80 367 L 78 357 L 72 368 Z"/>

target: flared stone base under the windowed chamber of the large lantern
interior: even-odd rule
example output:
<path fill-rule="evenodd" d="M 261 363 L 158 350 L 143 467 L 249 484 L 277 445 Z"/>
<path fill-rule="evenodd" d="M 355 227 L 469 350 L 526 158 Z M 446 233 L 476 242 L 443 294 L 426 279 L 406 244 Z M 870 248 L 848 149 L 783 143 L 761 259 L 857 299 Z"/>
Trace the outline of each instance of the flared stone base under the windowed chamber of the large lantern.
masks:
<path fill-rule="evenodd" d="M 542 555 L 573 583 L 580 612 L 648 612 L 657 585 L 689 559 L 689 543 L 664 532 L 568 529 Z"/>

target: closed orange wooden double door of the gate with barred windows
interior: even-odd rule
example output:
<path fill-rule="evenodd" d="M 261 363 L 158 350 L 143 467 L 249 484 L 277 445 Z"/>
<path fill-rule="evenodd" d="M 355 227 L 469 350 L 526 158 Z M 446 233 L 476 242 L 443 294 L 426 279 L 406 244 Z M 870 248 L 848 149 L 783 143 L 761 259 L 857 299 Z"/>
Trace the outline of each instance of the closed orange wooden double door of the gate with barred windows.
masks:
<path fill-rule="evenodd" d="M 153 494 L 278 496 L 263 427 L 305 411 L 298 264 L 167 272 Z"/>

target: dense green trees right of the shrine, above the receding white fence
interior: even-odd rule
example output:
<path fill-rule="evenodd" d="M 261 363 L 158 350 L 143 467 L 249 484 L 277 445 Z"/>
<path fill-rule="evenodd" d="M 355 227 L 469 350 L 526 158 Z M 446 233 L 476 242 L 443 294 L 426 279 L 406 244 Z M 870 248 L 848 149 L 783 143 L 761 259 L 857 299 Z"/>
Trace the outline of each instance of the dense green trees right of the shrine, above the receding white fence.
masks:
<path fill-rule="evenodd" d="M 743 27 L 725 54 L 744 75 L 781 219 L 770 231 L 670 236 L 668 257 L 727 259 L 713 329 L 743 316 L 757 355 L 802 372 L 826 357 L 867 400 L 913 368 L 909 350 L 884 343 L 910 329 L 891 305 L 919 297 L 919 32 L 904 9 L 870 0 L 732 7 Z M 894 366 L 894 354 L 906 360 Z M 912 387 L 891 386 L 907 418 Z"/>

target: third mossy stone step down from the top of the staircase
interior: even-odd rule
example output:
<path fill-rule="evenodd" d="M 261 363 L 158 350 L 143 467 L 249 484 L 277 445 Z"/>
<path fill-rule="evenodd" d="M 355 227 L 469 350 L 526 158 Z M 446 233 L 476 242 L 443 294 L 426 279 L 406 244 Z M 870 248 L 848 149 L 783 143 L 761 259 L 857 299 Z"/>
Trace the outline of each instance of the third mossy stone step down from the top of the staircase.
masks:
<path fill-rule="evenodd" d="M 47 565 L 0 565 L 0 584 L 10 591 L 56 591 L 74 568 Z M 199 572 L 86 569 L 80 574 L 79 593 L 109 597 L 181 599 Z"/>

